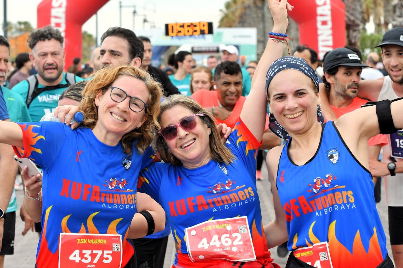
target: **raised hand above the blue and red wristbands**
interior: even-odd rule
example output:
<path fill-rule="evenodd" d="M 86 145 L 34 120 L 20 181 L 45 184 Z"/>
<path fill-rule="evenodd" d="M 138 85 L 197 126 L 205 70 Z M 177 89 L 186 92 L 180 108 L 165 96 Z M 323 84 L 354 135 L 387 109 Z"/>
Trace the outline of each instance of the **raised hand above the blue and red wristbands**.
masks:
<path fill-rule="evenodd" d="M 274 32 L 285 33 L 288 26 L 288 12 L 293 10 L 287 0 L 267 0 L 274 21 Z"/>

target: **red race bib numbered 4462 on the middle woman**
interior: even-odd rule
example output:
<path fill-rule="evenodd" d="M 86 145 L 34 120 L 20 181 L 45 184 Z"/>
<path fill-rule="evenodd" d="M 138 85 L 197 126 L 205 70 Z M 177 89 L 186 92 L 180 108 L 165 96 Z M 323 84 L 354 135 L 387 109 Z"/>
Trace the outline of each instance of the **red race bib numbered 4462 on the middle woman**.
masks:
<path fill-rule="evenodd" d="M 192 262 L 224 259 L 256 260 L 246 216 L 205 221 L 185 229 L 186 247 Z"/>

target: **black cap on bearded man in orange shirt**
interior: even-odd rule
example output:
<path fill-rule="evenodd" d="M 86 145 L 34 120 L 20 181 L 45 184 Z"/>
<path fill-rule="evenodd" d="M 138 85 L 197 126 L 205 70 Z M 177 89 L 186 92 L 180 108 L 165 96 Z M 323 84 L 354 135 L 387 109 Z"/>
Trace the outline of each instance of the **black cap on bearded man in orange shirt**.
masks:
<path fill-rule="evenodd" d="M 361 63 L 361 59 L 354 51 L 339 47 L 330 51 L 323 61 L 323 71 L 337 67 L 337 66 L 354 66 L 354 67 L 370 67 Z"/>

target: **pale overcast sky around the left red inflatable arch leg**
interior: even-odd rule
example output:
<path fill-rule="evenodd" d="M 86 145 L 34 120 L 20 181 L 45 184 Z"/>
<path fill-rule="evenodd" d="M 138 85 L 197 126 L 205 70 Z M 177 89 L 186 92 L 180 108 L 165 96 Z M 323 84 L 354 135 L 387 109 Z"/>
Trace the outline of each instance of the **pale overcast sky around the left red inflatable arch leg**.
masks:
<path fill-rule="evenodd" d="M 37 25 L 37 5 L 42 0 L 7 0 L 7 20 L 15 23 L 28 20 L 33 27 Z M 83 0 L 86 1 L 86 0 Z M 145 15 L 147 20 L 154 22 L 156 28 L 164 29 L 165 23 L 212 21 L 214 28 L 218 27 L 220 9 L 224 9 L 226 0 L 121 0 L 122 27 L 133 29 L 133 5 L 136 6 L 135 29 L 143 28 Z M 3 23 L 3 1 L 0 1 L 0 23 Z M 155 10 L 155 12 L 154 12 Z M 98 38 L 109 27 L 119 26 L 119 0 L 109 0 L 98 10 Z M 145 23 L 145 29 L 150 24 Z M 92 16 L 83 25 L 83 31 L 95 36 L 96 20 Z M 2 29 L 0 33 L 3 34 Z"/>

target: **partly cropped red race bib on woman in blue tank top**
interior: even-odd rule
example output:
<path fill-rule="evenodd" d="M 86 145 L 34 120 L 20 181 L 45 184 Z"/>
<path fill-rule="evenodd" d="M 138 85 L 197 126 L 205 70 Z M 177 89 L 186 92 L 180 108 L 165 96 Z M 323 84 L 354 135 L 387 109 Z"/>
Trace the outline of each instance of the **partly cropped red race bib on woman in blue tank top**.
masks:
<path fill-rule="evenodd" d="M 295 258 L 317 268 L 333 268 L 327 241 L 311 247 L 297 248 L 293 251 Z"/>

